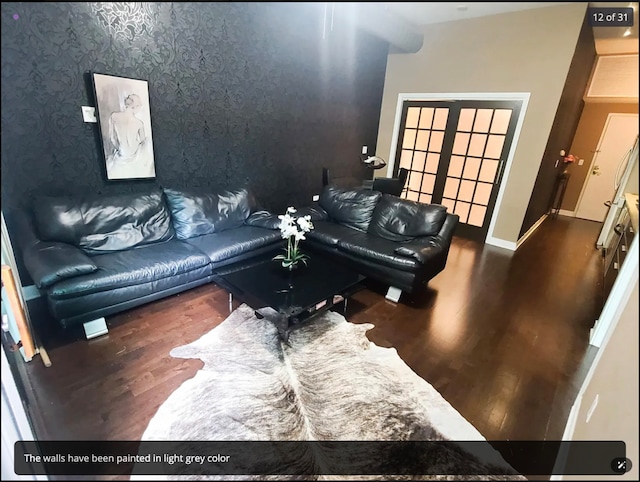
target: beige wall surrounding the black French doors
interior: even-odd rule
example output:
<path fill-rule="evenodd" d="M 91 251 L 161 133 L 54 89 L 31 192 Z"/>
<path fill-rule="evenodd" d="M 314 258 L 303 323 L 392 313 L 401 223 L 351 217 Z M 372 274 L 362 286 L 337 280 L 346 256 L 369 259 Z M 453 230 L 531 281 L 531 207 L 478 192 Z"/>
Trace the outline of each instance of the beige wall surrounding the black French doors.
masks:
<path fill-rule="evenodd" d="M 423 27 L 417 53 L 389 55 L 376 154 L 393 154 L 400 93 L 531 93 L 493 230 L 517 242 L 586 8 L 577 2 Z"/>

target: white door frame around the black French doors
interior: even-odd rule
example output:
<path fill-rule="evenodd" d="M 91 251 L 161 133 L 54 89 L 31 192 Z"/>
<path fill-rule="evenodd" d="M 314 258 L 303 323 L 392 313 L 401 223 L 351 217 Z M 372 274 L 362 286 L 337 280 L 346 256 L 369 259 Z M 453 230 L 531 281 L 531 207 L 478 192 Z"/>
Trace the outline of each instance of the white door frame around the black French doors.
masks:
<path fill-rule="evenodd" d="M 493 229 L 500 212 L 502 204 L 502 197 L 509 179 L 509 171 L 511 170 L 511 164 L 518 145 L 518 138 L 520 137 L 520 131 L 522 130 L 522 124 L 524 123 L 524 116 L 527 112 L 527 106 L 529 105 L 530 92 L 462 92 L 462 93 L 433 93 L 433 94 L 419 94 L 419 93 L 400 93 L 398 94 L 398 103 L 396 105 L 396 118 L 393 123 L 393 134 L 391 138 L 391 148 L 389 149 L 389 163 L 387 164 L 387 177 L 393 175 L 393 167 L 396 162 L 396 150 L 398 148 L 398 135 L 400 134 L 400 120 L 402 118 L 402 106 L 405 101 L 417 100 L 417 101 L 443 101 L 443 100 L 515 100 L 521 101 L 522 107 L 520 109 L 520 116 L 516 124 L 516 130 L 513 133 L 513 140 L 511 141 L 511 147 L 509 148 L 509 154 L 505 163 L 504 171 L 502 174 L 502 180 L 500 182 L 500 189 L 498 190 L 498 197 L 493 207 L 493 214 L 491 215 L 491 222 L 489 223 L 489 229 L 487 231 L 487 237 L 485 243 L 492 244 L 494 246 L 500 246 L 512 251 L 516 250 L 517 244 L 515 242 L 505 241 L 504 239 L 494 238 Z"/>

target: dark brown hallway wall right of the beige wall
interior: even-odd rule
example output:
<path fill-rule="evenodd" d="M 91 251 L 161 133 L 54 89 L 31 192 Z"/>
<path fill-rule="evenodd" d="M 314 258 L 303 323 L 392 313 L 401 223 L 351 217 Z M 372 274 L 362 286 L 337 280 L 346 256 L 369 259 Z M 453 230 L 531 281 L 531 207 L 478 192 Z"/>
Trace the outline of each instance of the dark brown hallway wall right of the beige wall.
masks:
<path fill-rule="evenodd" d="M 580 115 L 584 108 L 584 96 L 591 69 L 596 59 L 593 28 L 588 24 L 585 16 L 573 54 L 567 80 L 560 96 L 558 110 L 551 127 L 549 140 L 544 151 L 538 177 L 531 193 L 529 206 L 518 237 L 522 237 L 538 220 L 552 207 L 554 187 L 558 175 L 566 166 L 563 165 L 560 151 L 564 149 L 569 154 L 571 142 L 578 129 Z M 548 72 L 548 75 L 556 75 Z M 556 166 L 556 161 L 558 161 Z"/>

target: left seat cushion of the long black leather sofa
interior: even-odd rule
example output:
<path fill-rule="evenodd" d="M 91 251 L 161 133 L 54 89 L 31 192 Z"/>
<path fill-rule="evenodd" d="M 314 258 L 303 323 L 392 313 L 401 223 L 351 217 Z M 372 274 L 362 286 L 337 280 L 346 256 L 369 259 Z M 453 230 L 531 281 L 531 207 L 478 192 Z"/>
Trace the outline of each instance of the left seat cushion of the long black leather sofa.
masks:
<path fill-rule="evenodd" d="M 193 270 L 211 272 L 209 258 L 204 253 L 177 239 L 101 254 L 91 260 L 97 271 L 56 283 L 49 289 L 49 296 L 68 299 L 177 277 Z"/>

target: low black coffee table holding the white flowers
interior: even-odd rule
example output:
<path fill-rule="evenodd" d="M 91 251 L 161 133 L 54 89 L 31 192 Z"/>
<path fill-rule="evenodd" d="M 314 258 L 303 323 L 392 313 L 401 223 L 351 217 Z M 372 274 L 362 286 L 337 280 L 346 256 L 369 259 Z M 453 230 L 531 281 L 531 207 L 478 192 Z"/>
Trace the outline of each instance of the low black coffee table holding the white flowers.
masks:
<path fill-rule="evenodd" d="M 360 290 L 365 277 L 327 255 L 307 251 L 307 265 L 290 272 L 273 257 L 282 249 L 214 269 L 214 281 L 233 297 L 249 305 L 258 318 L 267 318 L 278 328 L 283 341 L 303 321 L 343 304 Z"/>

